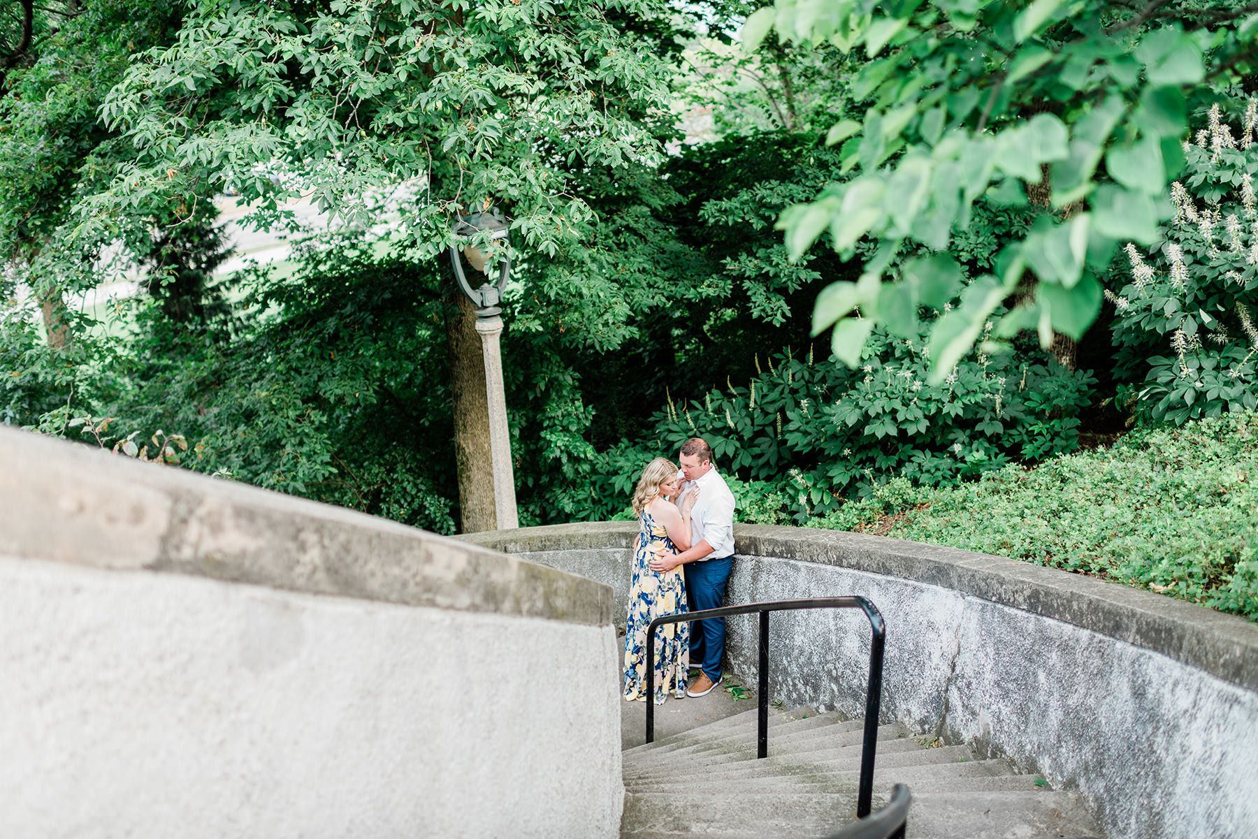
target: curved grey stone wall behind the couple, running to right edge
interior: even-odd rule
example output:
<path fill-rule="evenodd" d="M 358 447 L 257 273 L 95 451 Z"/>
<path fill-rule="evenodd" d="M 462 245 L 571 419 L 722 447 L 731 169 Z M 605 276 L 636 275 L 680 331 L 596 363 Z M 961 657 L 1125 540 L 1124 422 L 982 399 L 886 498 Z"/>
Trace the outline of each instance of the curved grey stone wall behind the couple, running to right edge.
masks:
<path fill-rule="evenodd" d="M 634 523 L 465 537 L 610 585 Z M 736 526 L 726 603 L 866 595 L 887 621 L 883 714 L 1076 789 L 1111 839 L 1258 836 L 1258 626 L 1096 579 L 859 533 Z M 623 625 L 624 616 L 616 620 Z M 727 667 L 755 674 L 752 618 Z M 863 708 L 869 631 L 772 616 L 774 699 Z"/>

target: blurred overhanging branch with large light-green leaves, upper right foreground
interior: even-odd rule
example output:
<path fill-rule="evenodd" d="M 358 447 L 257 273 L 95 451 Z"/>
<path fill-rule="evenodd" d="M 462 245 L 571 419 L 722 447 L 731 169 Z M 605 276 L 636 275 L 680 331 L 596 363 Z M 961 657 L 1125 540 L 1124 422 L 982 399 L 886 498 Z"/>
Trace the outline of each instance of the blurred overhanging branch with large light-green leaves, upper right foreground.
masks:
<path fill-rule="evenodd" d="M 1025 328 L 1045 347 L 1054 332 L 1079 337 L 1101 306 L 1096 274 L 1118 243 L 1157 239 L 1190 111 L 1209 102 L 1211 84 L 1250 72 L 1252 13 L 1195 0 L 779 0 L 757 10 L 749 49 L 776 29 L 784 43 L 868 59 L 850 78 L 858 116 L 828 132 L 852 176 L 780 219 L 793 258 L 825 230 L 844 258 L 863 239 L 877 244 L 859 281 L 818 298 L 816 331 L 833 325 L 837 355 L 854 365 L 874 323 L 907 336 L 917 303 L 960 293 L 931 328 L 936 381 L 1006 302 L 994 338 Z M 1050 211 L 988 274 L 961 283 L 921 270 L 969 228 L 982 196 L 1039 199 Z"/>

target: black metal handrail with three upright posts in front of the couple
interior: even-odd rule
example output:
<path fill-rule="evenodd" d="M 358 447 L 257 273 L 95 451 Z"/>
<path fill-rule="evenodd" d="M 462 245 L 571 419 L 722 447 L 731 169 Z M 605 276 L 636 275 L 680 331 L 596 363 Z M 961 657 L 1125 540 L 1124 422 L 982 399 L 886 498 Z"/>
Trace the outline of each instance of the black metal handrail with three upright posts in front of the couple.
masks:
<path fill-rule="evenodd" d="M 726 615 L 760 613 L 760 701 L 759 738 L 756 757 L 769 755 L 769 613 L 796 609 L 859 609 L 869 620 L 869 687 L 866 694 L 864 742 L 860 748 L 860 789 L 857 792 L 857 818 L 869 815 L 873 806 L 873 758 L 878 746 L 878 704 L 882 698 L 882 650 L 887 640 L 887 625 L 882 614 L 867 597 L 809 597 L 806 600 L 772 600 L 749 603 L 741 606 L 722 606 L 704 611 L 683 611 L 664 615 L 647 626 L 647 742 L 655 741 L 655 628 L 663 624 L 681 624 Z"/>

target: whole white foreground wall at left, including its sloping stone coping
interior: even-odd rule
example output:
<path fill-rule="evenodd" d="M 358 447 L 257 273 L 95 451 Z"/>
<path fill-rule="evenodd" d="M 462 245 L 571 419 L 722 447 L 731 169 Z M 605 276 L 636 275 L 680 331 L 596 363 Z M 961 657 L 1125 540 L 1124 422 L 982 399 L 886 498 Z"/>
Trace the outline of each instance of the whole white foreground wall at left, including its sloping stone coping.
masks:
<path fill-rule="evenodd" d="M 0 836 L 613 839 L 611 604 L 0 428 Z"/>

